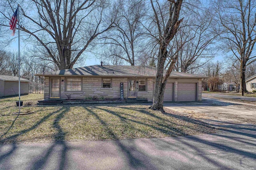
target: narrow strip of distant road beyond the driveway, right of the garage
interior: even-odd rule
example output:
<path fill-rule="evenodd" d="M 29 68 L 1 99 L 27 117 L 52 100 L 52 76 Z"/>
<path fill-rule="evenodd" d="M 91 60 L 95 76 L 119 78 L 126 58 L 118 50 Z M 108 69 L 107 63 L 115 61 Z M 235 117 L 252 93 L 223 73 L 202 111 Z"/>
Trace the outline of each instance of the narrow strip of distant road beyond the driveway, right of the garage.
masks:
<path fill-rule="evenodd" d="M 246 100 L 246 101 L 256 102 L 255 97 L 233 96 L 233 95 L 218 94 L 218 93 L 202 93 L 202 97 L 214 97 L 214 98 L 222 98 L 222 99 Z"/>

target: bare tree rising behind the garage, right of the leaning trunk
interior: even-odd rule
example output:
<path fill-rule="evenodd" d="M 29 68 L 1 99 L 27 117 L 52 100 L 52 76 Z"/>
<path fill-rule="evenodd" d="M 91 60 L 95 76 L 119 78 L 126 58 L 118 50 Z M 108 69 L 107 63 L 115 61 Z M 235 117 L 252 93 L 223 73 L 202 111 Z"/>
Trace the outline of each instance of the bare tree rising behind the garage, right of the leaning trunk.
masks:
<path fill-rule="evenodd" d="M 197 18 L 195 20 L 195 18 Z M 186 21 L 183 21 L 175 34 L 174 43 L 170 48 L 170 57 L 178 55 L 175 70 L 181 72 L 193 72 L 196 68 L 207 63 L 214 57 L 214 40 L 216 34 L 211 30 L 212 16 L 208 9 L 202 8 L 197 13 L 192 13 Z M 178 50 L 178 52 L 177 52 Z M 168 63 L 171 58 L 167 58 Z"/>

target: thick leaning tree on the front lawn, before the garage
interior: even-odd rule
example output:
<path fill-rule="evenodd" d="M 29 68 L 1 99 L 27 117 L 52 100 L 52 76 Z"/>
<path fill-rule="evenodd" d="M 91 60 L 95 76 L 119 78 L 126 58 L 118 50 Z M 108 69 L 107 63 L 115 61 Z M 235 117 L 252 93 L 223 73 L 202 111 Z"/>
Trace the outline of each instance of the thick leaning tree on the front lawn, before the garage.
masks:
<path fill-rule="evenodd" d="M 156 39 L 159 46 L 154 98 L 153 104 L 150 108 L 164 111 L 164 90 L 167 79 L 169 78 L 170 73 L 174 68 L 174 64 L 177 61 L 177 55 L 172 56 L 172 62 L 170 63 L 165 76 L 164 65 L 168 57 L 168 45 L 174 38 L 174 35 L 176 34 L 178 27 L 183 20 L 179 19 L 182 0 L 169 0 L 168 2 L 164 2 L 164 4 L 160 4 L 158 1 L 153 2 L 153 0 L 150 0 L 150 3 L 154 12 L 153 23 L 156 25 L 156 33 L 151 33 L 151 35 Z"/>

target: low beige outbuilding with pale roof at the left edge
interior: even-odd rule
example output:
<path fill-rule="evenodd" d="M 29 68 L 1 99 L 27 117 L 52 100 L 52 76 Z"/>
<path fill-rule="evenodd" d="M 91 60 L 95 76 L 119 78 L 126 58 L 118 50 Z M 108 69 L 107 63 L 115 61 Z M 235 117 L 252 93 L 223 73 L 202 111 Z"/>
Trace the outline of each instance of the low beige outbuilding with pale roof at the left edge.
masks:
<path fill-rule="evenodd" d="M 20 94 L 28 94 L 30 81 L 20 78 Z M 19 94 L 19 78 L 16 76 L 0 75 L 0 97 Z"/>

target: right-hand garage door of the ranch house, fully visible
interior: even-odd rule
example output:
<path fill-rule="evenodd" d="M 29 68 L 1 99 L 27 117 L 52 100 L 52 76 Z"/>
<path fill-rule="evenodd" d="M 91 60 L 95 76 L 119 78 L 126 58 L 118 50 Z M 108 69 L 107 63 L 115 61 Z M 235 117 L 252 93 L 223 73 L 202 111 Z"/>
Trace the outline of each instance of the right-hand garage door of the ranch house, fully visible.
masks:
<path fill-rule="evenodd" d="M 196 101 L 196 83 L 178 83 L 178 101 Z"/>

